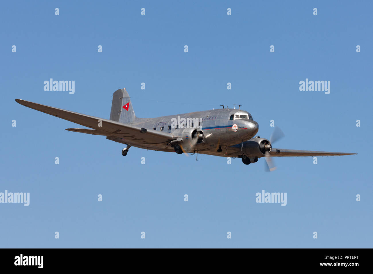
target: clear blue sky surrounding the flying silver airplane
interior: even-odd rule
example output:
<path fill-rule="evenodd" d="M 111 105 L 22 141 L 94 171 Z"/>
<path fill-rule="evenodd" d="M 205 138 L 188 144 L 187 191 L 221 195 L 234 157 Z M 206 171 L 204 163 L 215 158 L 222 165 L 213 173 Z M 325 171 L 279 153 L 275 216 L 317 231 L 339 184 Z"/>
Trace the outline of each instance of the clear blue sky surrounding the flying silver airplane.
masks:
<path fill-rule="evenodd" d="M 1 4 L 0 192 L 30 192 L 28 207 L 0 204 L 2 248 L 372 248 L 372 3 L 118 2 Z M 50 78 L 75 94 L 44 91 Z M 330 94 L 300 91 L 306 78 Z M 274 147 L 358 155 L 276 158 L 272 173 L 263 158 L 123 157 L 122 144 L 14 101 L 109 118 L 123 87 L 138 117 L 241 104 L 259 136 L 272 119 L 283 130 Z M 257 204 L 262 190 L 287 205 Z"/>

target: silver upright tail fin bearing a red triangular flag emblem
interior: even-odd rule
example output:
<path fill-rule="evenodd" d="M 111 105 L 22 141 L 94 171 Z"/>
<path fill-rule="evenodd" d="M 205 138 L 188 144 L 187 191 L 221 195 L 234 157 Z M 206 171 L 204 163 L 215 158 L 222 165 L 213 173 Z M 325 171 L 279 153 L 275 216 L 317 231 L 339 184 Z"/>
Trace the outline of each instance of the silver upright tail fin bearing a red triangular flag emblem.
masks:
<path fill-rule="evenodd" d="M 126 88 L 118 89 L 114 92 L 110 120 L 124 124 L 134 122 L 135 111 Z"/>

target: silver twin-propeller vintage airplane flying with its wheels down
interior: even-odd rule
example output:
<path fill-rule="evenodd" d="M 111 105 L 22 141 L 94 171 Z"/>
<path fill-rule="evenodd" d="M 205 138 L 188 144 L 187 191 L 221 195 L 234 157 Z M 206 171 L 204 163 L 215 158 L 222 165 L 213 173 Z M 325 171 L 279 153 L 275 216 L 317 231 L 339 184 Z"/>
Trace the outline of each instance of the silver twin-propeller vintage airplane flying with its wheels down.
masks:
<path fill-rule="evenodd" d="M 135 116 L 131 99 L 125 88 L 113 94 L 110 119 L 76 113 L 21 99 L 16 102 L 29 108 L 77 123 L 89 128 L 69 128 L 72 132 L 106 136 L 114 142 L 127 145 L 122 149 L 126 156 L 130 147 L 177 154 L 200 153 L 220 157 L 241 158 L 246 165 L 264 157 L 267 171 L 276 166 L 272 157 L 340 156 L 357 153 L 307 151 L 272 148 L 282 138 L 276 127 L 270 139 L 255 136 L 259 125 L 247 111 L 224 108 L 183 113 L 157 118 Z"/>

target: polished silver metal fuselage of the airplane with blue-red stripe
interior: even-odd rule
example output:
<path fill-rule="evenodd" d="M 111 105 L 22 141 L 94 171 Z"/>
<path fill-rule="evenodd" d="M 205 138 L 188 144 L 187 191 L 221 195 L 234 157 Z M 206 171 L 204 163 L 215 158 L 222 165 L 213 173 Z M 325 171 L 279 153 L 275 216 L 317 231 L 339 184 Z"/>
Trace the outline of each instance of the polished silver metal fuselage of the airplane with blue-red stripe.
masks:
<path fill-rule="evenodd" d="M 169 116 L 162 116 L 157 118 L 138 118 L 135 117 L 134 122 L 131 125 L 145 128 L 147 130 L 159 130 L 164 132 L 170 132 L 175 136 L 179 136 L 186 139 L 190 139 L 190 133 L 194 129 L 201 130 L 203 132 L 203 142 L 193 146 L 192 151 L 198 151 L 199 153 L 206 153 L 211 151 L 215 154 L 216 149 L 221 147 L 224 151 L 226 147 L 241 144 L 253 138 L 258 132 L 258 123 L 249 119 L 233 119 L 230 120 L 232 114 L 246 114 L 251 117 L 251 114 L 247 111 L 220 108 L 215 110 L 197 111 L 192 113 L 182 113 Z M 182 128 L 183 125 L 178 124 L 177 128 L 173 125 L 173 121 L 182 119 L 195 119 L 193 127 Z M 201 121 L 201 125 L 199 125 Z M 236 125 L 233 127 L 233 125 Z M 199 126 L 199 127 L 198 127 Z M 189 135 L 189 136 L 188 136 Z M 161 144 L 142 144 L 141 140 L 126 140 L 123 138 L 107 137 L 116 142 L 128 144 L 134 147 L 152 149 L 157 151 L 174 151 L 172 145 L 165 143 Z M 213 148 L 213 149 L 212 149 Z"/>

